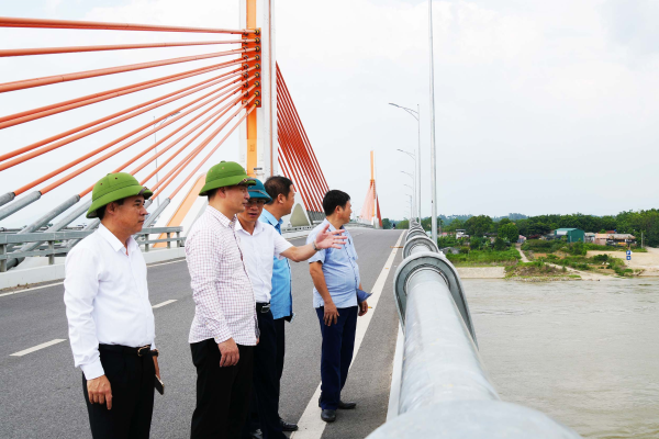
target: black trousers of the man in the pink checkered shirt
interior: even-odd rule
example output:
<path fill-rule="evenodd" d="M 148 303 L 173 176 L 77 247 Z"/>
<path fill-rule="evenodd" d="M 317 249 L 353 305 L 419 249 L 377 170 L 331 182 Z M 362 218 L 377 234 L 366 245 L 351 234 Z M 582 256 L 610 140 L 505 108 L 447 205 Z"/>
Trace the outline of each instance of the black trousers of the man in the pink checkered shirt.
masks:
<path fill-rule="evenodd" d="M 254 346 L 238 345 L 236 365 L 220 367 L 220 348 L 210 338 L 191 344 L 197 368 L 197 407 L 191 435 L 197 438 L 239 439 L 249 412 Z"/>

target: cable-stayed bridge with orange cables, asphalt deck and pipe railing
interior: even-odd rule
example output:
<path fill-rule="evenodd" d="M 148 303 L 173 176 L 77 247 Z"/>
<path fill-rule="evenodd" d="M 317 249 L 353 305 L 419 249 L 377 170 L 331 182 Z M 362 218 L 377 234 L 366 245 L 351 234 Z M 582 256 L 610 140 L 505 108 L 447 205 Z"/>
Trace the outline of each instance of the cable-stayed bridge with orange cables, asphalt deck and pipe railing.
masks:
<path fill-rule="evenodd" d="M 44 97 L 30 110 L 0 116 L 0 130 L 29 126 L 66 112 L 88 110 L 90 114 L 36 140 L 19 142 L 0 151 L 0 177 L 20 170 L 20 181 L 5 181 L 0 193 L 0 221 L 7 223 L 23 210 L 57 196 L 47 209 L 37 209 L 29 224 L 7 227 L 0 234 L 0 286 L 5 288 L 0 291 L 0 436 L 88 436 L 79 371 L 72 368 L 66 342 L 62 260 L 99 224 L 91 221 L 77 226 L 91 203 L 92 187 L 83 183 L 83 177 L 118 171 L 135 176 L 154 191 L 138 239 L 149 262 L 150 302 L 168 392 L 156 398 L 153 437 L 189 435 L 194 370 L 187 333 L 193 302 L 182 248 L 187 230 L 205 206 L 205 200 L 198 196 L 205 170 L 217 161 L 217 151 L 227 139 L 237 135 L 239 161 L 250 176 L 265 179 L 284 175 L 295 183 L 297 203 L 286 224 L 289 239 L 302 244 L 311 226 L 324 217 L 322 199 L 330 184 L 312 147 L 313 134 L 304 130 L 304 115 L 298 113 L 277 64 L 270 4 L 242 0 L 238 29 L 0 18 L 0 27 L 75 31 L 81 42 L 0 49 L 0 57 L 5 58 L 34 57 L 52 63 L 65 54 L 85 57 L 116 50 L 196 50 L 79 71 L 67 71 L 63 64 L 57 75 L 38 76 L 35 71 L 34 76 L 0 83 L 2 95 L 38 88 Z M 150 43 L 83 44 L 86 35 L 101 31 L 180 37 L 166 43 L 154 36 Z M 194 64 L 202 60 L 202 67 Z M 161 68 L 168 68 L 168 74 L 159 74 Z M 142 70 L 148 71 L 149 79 L 120 80 L 118 87 L 99 87 L 56 102 L 47 99 L 49 88 L 58 85 L 121 78 Z M 157 94 L 147 97 L 145 92 Z M 123 98 L 135 101 L 107 114 L 94 110 L 111 101 L 125 102 Z M 153 117 L 147 123 L 136 122 L 145 114 Z M 77 147 L 96 138 L 99 142 L 92 142 L 91 147 L 90 143 Z M 56 156 L 60 151 L 68 154 Z M 34 172 L 35 160 L 48 157 L 57 159 L 53 158 L 47 171 Z M 66 159 L 59 161 L 62 157 Z M 345 390 L 359 406 L 342 413 L 332 426 L 320 419 L 320 334 L 310 304 L 308 268 L 297 264 L 293 295 L 299 317 L 289 330 L 280 408 L 287 419 L 300 424 L 292 437 L 451 437 L 453 431 L 480 438 L 512 430 L 518 434 L 510 436 L 515 438 L 537 431 L 547 438 L 576 437 L 539 413 L 501 403 L 496 392 L 490 391 L 459 275 L 418 224 L 412 223 L 409 233 L 377 229 L 381 214 L 372 154 L 368 184 L 361 224 L 354 225 L 353 236 L 364 285 L 373 293 L 369 301 L 372 309 L 359 320 Z M 71 187 L 76 190 L 60 195 L 60 189 Z M 30 285 L 18 288 L 25 283 Z M 442 313 L 427 313 L 433 309 Z M 420 336 L 422 327 L 439 328 L 444 347 L 454 349 L 451 356 L 443 357 L 443 346 Z M 453 391 L 443 392 L 446 387 Z M 435 431 L 437 414 L 449 436 L 428 436 Z M 489 436 L 483 436 L 485 432 Z"/>

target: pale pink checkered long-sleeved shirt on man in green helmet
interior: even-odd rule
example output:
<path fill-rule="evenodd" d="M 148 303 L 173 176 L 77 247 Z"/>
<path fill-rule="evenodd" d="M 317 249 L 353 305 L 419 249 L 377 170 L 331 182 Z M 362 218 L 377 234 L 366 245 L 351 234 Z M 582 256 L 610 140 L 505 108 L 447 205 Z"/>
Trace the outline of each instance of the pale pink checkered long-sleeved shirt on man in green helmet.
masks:
<path fill-rule="evenodd" d="M 237 218 L 228 219 L 210 205 L 186 239 L 194 319 L 189 342 L 233 337 L 243 346 L 256 346 L 258 323 L 252 283 L 235 234 Z"/>

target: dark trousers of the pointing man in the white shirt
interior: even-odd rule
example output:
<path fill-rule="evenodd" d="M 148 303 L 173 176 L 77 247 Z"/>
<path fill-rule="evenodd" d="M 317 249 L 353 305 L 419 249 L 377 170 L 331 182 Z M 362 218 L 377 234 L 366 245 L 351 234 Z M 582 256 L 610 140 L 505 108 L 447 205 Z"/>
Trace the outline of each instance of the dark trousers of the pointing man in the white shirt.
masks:
<path fill-rule="evenodd" d="M 270 311 L 261 313 L 256 304 L 256 317 L 260 330 L 259 342 L 254 349 L 254 381 L 252 392 L 252 417 L 245 423 L 243 438 L 260 428 L 265 439 L 286 439 L 279 423 L 279 376 L 277 372 L 277 333 Z"/>

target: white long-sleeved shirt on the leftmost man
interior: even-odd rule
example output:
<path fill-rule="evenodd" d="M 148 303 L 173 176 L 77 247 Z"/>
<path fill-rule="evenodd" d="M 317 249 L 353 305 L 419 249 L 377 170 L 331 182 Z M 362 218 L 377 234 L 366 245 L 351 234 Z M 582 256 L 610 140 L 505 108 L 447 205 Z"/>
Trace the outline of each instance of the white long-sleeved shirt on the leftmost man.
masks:
<path fill-rule="evenodd" d="M 64 303 L 74 361 L 87 380 L 104 374 L 99 344 L 156 348 L 146 262 L 133 237 L 126 255 L 124 243 L 100 224 L 69 251 L 65 272 Z"/>

